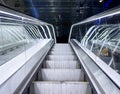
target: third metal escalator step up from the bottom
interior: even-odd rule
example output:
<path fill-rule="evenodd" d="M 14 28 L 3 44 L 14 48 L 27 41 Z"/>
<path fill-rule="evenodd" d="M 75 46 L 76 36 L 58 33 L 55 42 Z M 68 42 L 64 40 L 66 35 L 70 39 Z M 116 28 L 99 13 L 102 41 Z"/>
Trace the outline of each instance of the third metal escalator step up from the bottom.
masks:
<path fill-rule="evenodd" d="M 79 69 L 78 61 L 46 61 L 45 68 L 48 69 Z"/>

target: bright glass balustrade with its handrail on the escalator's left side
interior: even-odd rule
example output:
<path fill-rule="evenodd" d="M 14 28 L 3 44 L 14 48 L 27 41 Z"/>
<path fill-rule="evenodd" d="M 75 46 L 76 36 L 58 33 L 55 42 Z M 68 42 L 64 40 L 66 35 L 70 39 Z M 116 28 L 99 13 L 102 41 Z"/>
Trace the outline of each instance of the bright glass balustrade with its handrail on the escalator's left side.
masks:
<path fill-rule="evenodd" d="M 55 40 L 51 24 L 0 6 L 0 65 L 47 39 Z"/>

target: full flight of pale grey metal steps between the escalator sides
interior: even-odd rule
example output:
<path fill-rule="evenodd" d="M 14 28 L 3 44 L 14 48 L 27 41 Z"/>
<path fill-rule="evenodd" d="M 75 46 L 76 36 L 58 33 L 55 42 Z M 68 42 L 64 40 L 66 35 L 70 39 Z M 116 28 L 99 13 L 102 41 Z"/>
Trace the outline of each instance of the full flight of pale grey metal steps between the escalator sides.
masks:
<path fill-rule="evenodd" d="M 69 44 L 55 44 L 33 81 L 30 94 L 92 94 Z"/>

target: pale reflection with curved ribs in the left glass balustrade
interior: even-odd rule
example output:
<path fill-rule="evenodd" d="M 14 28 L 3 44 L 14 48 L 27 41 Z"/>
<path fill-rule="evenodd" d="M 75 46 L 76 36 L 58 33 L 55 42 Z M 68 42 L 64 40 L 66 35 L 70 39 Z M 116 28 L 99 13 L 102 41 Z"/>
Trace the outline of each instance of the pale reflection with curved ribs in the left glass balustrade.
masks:
<path fill-rule="evenodd" d="M 7 20 L 8 21 L 8 20 Z M 44 29 L 46 27 L 46 29 Z M 46 31 L 47 30 L 47 31 Z M 47 32 L 47 33 L 46 33 Z M 14 58 L 43 38 L 50 38 L 48 26 L 27 23 L 0 24 L 0 65 Z"/>

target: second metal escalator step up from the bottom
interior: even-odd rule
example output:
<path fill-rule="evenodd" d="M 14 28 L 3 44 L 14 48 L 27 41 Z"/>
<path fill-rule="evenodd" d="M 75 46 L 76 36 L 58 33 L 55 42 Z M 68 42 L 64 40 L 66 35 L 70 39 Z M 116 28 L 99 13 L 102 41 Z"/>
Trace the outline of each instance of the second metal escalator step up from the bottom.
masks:
<path fill-rule="evenodd" d="M 83 74 L 80 69 L 41 69 L 39 78 L 43 81 L 83 81 Z"/>

